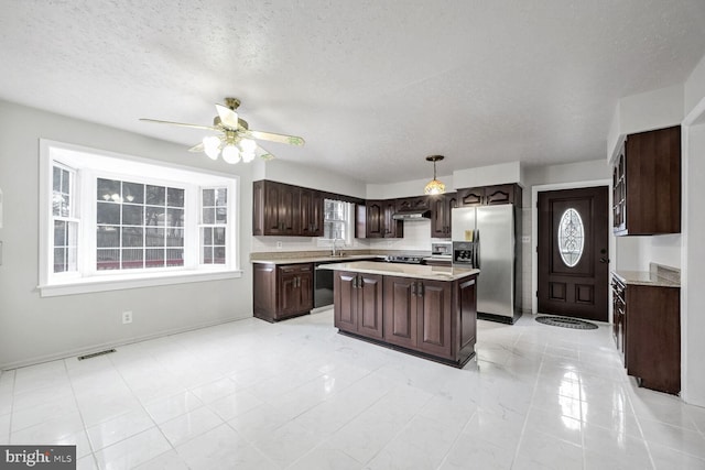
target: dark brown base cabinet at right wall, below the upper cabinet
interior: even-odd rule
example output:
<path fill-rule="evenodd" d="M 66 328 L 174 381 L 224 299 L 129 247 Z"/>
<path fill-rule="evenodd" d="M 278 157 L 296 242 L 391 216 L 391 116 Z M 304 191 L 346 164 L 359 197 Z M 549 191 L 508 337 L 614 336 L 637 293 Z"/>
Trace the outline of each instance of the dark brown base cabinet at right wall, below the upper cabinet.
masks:
<path fill-rule="evenodd" d="M 612 276 L 614 335 L 627 373 L 647 389 L 681 391 L 679 287 L 622 284 Z"/>

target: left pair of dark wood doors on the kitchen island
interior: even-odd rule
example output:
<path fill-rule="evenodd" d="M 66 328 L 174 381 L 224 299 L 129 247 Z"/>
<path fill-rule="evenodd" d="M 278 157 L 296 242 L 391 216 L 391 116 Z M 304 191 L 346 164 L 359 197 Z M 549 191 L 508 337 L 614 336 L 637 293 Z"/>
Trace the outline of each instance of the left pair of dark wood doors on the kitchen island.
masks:
<path fill-rule="evenodd" d="M 382 276 L 336 271 L 334 323 L 344 331 L 381 339 Z"/>

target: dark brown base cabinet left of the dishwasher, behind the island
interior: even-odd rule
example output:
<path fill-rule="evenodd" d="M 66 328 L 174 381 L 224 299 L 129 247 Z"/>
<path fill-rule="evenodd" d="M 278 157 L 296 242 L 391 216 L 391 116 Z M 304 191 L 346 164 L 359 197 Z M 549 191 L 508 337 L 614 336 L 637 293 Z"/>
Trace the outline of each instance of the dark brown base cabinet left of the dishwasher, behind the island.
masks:
<path fill-rule="evenodd" d="M 253 264 L 254 316 L 267 321 L 313 308 L 313 264 Z"/>

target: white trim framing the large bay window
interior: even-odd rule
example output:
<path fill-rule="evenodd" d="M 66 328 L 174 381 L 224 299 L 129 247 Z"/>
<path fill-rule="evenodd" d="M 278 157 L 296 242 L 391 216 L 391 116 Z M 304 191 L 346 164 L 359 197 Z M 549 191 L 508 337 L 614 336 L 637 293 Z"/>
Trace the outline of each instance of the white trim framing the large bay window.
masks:
<path fill-rule="evenodd" d="M 134 178 L 133 173 L 126 173 L 120 168 L 123 168 L 126 162 L 131 167 L 145 167 L 149 165 L 151 167 L 159 166 L 160 170 L 163 170 L 162 173 L 167 173 L 173 176 L 173 181 L 166 179 L 173 185 L 174 181 L 188 181 L 195 185 L 203 186 L 213 186 L 214 184 L 219 186 L 225 186 L 228 188 L 228 220 L 230 221 L 231 230 L 228 237 L 228 250 L 227 256 L 230 262 L 226 265 L 199 265 L 198 261 L 195 260 L 195 264 L 192 263 L 195 267 L 165 267 L 165 269 L 154 269 L 139 272 L 113 272 L 109 275 L 104 275 L 104 273 L 98 273 L 95 270 L 90 269 L 89 265 L 85 263 L 90 260 L 86 260 L 84 258 L 90 256 L 82 256 L 78 260 L 79 265 L 83 265 L 84 276 L 77 273 L 53 273 L 52 269 L 52 256 L 50 254 L 53 253 L 53 226 L 51 223 L 51 200 L 52 200 L 52 166 L 54 162 L 54 153 L 58 153 L 59 155 L 65 155 L 66 157 L 62 157 L 61 162 L 65 165 L 70 166 L 70 156 L 72 155 L 82 155 L 82 154 L 90 154 L 90 155 L 99 155 L 107 162 L 108 166 L 110 164 L 115 165 L 115 168 L 108 170 L 110 173 L 118 175 L 117 177 L 124 177 L 127 179 Z M 75 156 L 76 157 L 76 156 Z M 77 182 L 75 182 L 76 187 L 86 184 L 85 181 L 88 178 L 82 177 L 82 172 L 90 172 L 90 170 L 83 171 L 78 168 L 77 172 Z M 119 176 L 119 175 L 123 176 Z M 196 181 L 194 181 L 196 178 Z M 160 178 L 151 178 L 152 182 L 159 181 Z M 215 183 L 214 183 L 215 182 Z M 240 269 L 240 240 L 238 233 L 240 232 L 240 220 L 239 220 L 239 211 L 236 210 L 239 207 L 239 190 L 240 190 L 240 179 L 237 175 L 213 172 L 196 167 L 175 165 L 167 162 L 155 161 L 150 159 L 142 159 L 132 155 L 120 154 L 116 152 L 109 152 L 105 150 L 90 149 L 80 145 L 68 144 L 64 142 L 52 141 L 47 139 L 40 139 L 40 247 L 39 247 L 39 285 L 40 294 L 42 297 L 47 296 L 57 296 L 57 295 L 72 295 L 72 294 L 82 294 L 82 293 L 94 293 L 94 292 L 104 292 L 104 291 L 117 291 L 124 288 L 137 288 L 137 287 L 149 287 L 149 286 L 160 286 L 160 285 L 170 285 L 170 284 L 181 284 L 181 283 L 191 283 L 191 282 L 203 282 L 203 281 L 218 281 L 224 278 L 234 278 L 241 277 L 242 270 Z M 93 189 L 95 193 L 95 188 Z M 90 193 L 89 193 L 90 194 Z M 77 198 L 80 198 L 80 190 L 76 194 Z M 95 199 L 95 198 L 94 198 Z M 199 199 L 198 199 L 199 200 Z M 79 243 L 82 237 L 90 236 L 87 231 L 93 229 L 95 232 L 95 220 L 86 219 L 85 214 L 80 214 L 80 208 L 83 205 L 80 201 L 77 201 L 76 210 L 79 211 L 77 215 L 82 218 L 80 226 L 83 229 L 79 229 Z M 196 210 L 197 214 L 199 210 Z M 93 225 L 91 225 L 93 223 Z M 187 222 L 184 220 L 184 229 L 185 232 L 191 230 L 192 237 L 197 237 L 197 233 L 194 233 L 195 230 L 197 232 L 196 225 L 192 221 L 188 221 L 188 225 L 193 226 L 187 229 Z M 95 237 L 95 233 L 93 233 Z M 83 254 L 79 250 L 79 254 Z M 191 253 L 184 253 L 184 256 L 192 256 Z M 93 255 L 95 258 L 95 253 Z M 186 263 L 186 260 L 184 260 Z M 58 275 L 64 274 L 64 275 Z"/>

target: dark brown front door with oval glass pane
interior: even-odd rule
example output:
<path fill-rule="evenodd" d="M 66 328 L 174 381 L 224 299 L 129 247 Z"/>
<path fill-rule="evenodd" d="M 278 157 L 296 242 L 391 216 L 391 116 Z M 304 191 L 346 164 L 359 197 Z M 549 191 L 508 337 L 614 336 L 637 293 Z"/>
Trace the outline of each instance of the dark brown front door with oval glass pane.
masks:
<path fill-rule="evenodd" d="M 539 313 L 608 319 L 607 186 L 539 193 Z"/>

